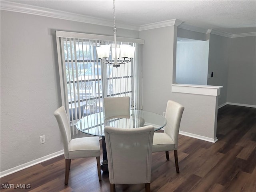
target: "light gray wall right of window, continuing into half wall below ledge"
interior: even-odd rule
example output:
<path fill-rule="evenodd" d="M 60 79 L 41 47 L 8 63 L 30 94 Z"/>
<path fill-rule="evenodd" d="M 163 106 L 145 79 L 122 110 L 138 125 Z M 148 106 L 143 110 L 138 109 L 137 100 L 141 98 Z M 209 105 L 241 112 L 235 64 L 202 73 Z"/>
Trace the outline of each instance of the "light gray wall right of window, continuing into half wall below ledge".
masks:
<path fill-rule="evenodd" d="M 168 100 L 179 102 L 185 107 L 180 131 L 214 141 L 218 99 L 172 92 L 176 74 L 177 27 L 141 31 L 140 38 L 144 39 L 143 110 L 162 114 Z"/>

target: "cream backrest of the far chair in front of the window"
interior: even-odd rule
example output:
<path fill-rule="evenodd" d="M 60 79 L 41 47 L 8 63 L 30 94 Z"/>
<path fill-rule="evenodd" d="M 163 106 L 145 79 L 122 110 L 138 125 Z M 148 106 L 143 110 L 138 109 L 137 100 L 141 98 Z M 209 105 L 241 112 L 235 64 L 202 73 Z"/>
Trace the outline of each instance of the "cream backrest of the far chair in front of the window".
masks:
<path fill-rule="evenodd" d="M 111 118 L 130 118 L 130 97 L 104 98 L 105 120 Z"/>

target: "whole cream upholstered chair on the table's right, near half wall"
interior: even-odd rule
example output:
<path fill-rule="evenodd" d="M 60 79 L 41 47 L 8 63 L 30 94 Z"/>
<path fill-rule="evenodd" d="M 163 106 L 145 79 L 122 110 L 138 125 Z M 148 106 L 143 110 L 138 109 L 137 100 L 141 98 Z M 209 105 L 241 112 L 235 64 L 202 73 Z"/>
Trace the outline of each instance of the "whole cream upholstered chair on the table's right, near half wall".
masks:
<path fill-rule="evenodd" d="M 164 127 L 163 133 L 154 133 L 152 148 L 152 152 L 165 151 L 167 160 L 169 160 L 169 151 L 174 150 L 174 159 L 177 173 L 180 172 L 178 165 L 178 134 L 183 111 L 184 106 L 175 101 L 168 100 L 165 113 L 167 124 Z"/>

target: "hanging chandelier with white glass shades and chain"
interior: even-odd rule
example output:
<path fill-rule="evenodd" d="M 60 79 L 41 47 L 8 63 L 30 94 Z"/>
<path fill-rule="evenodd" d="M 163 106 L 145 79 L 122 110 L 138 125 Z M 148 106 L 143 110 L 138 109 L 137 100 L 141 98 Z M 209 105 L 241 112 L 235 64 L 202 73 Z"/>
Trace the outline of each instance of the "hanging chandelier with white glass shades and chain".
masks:
<path fill-rule="evenodd" d="M 114 67 L 119 67 L 120 64 L 125 64 L 134 58 L 135 47 L 122 44 L 116 46 L 116 13 L 115 13 L 115 0 L 113 0 L 114 10 L 114 47 L 111 48 L 112 60 L 110 58 L 110 45 L 101 45 L 96 47 L 98 58 L 106 64 L 112 64 Z"/>

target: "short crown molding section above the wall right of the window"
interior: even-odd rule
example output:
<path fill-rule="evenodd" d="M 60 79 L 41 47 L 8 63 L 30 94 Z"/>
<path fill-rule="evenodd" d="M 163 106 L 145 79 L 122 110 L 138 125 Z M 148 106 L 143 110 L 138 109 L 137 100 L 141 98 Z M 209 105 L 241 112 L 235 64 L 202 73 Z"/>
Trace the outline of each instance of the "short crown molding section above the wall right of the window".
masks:
<path fill-rule="evenodd" d="M 162 28 L 162 27 L 167 27 L 167 26 L 179 26 L 182 24 L 184 21 L 179 20 L 179 19 L 172 19 L 172 20 L 166 20 L 166 21 L 161 21 L 161 22 L 156 22 L 156 23 L 151 23 L 151 24 L 146 24 L 146 25 L 141 25 L 140 26 L 140 31 L 143 30 L 149 30 L 149 29 L 155 29 L 155 28 Z"/>

